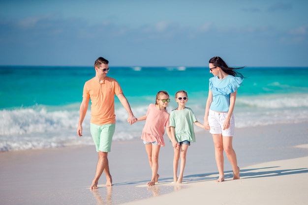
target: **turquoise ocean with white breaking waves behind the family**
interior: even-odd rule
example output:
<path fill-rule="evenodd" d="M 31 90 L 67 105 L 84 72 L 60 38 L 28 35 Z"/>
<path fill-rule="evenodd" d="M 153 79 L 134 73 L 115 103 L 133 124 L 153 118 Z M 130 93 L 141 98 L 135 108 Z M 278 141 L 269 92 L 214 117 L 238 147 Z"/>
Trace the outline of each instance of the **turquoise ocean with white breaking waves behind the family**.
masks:
<path fill-rule="evenodd" d="M 237 128 L 308 125 L 308 67 L 246 67 L 239 71 L 246 79 L 236 99 Z M 92 66 L 0 66 L 0 151 L 93 145 L 90 110 L 82 138 L 76 129 L 83 86 L 94 74 Z M 203 123 L 213 76 L 208 67 L 111 67 L 108 76 L 120 83 L 135 117 L 146 114 L 159 90 L 169 92 L 170 112 L 177 107 L 175 92 L 184 89 L 188 92 L 186 106 Z M 128 124 L 117 98 L 115 112 L 113 140 L 139 139 L 144 122 Z"/>

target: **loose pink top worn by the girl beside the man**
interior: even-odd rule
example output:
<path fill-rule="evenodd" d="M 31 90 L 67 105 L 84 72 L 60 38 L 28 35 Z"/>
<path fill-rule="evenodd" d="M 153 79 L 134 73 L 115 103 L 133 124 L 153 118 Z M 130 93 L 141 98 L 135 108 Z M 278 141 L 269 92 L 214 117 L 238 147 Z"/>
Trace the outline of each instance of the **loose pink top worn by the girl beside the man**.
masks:
<path fill-rule="evenodd" d="M 141 139 L 146 142 L 156 141 L 158 145 L 165 146 L 163 138 L 165 127 L 170 127 L 169 113 L 165 110 L 158 110 L 154 104 L 150 104 Z"/>

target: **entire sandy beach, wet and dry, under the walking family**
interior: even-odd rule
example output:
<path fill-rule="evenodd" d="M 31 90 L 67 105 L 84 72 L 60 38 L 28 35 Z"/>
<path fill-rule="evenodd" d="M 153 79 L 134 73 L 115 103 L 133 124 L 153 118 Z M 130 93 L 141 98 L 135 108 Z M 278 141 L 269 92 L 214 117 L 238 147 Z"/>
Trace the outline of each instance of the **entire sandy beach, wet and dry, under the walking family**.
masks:
<path fill-rule="evenodd" d="M 306 205 L 308 184 L 308 126 L 277 124 L 238 128 L 233 146 L 241 178 L 232 179 L 225 158 L 225 180 L 217 183 L 212 136 L 196 135 L 187 151 L 182 184 L 171 183 L 173 148 L 159 154 L 159 183 L 147 187 L 151 170 L 141 140 L 113 142 L 108 154 L 113 186 L 89 189 L 97 153 L 94 146 L 0 153 L 1 205 Z M 77 136 L 76 136 L 77 137 Z"/>

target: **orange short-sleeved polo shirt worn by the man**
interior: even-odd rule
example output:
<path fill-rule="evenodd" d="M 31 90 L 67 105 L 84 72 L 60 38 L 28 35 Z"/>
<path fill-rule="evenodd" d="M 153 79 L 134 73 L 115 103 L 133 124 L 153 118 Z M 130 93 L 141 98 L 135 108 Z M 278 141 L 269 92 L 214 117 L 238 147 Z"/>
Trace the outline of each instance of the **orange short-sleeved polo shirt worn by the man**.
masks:
<path fill-rule="evenodd" d="M 123 93 L 119 83 L 108 76 L 103 83 L 92 78 L 87 81 L 83 90 L 83 97 L 91 99 L 91 122 L 96 125 L 116 122 L 115 95 Z"/>

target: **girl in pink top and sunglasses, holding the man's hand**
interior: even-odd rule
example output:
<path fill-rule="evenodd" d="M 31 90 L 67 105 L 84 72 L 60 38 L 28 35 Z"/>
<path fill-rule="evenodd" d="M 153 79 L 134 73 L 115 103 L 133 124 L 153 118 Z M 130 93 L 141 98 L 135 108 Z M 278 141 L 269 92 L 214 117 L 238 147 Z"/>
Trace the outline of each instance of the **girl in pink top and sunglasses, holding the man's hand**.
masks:
<path fill-rule="evenodd" d="M 169 113 L 166 111 L 169 102 L 168 92 L 161 90 L 156 94 L 155 104 L 149 105 L 147 115 L 137 118 L 137 121 L 146 120 L 141 139 L 146 146 L 152 169 L 152 179 L 147 183 L 148 186 L 153 186 L 158 182 L 158 154 L 160 146 L 165 146 L 163 138 L 165 128 L 168 137 L 171 139 Z M 172 142 L 174 147 L 176 144 L 176 141 Z"/>

